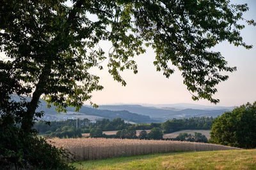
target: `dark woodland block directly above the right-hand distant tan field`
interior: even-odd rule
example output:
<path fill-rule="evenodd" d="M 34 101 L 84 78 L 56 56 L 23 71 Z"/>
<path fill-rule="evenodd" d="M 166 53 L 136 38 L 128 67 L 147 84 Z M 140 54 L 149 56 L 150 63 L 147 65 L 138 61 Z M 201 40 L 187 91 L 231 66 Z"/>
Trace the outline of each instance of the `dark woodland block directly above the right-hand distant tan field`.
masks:
<path fill-rule="evenodd" d="M 161 127 L 164 133 L 172 133 L 183 129 L 211 129 L 212 117 L 193 117 L 167 120 Z"/>

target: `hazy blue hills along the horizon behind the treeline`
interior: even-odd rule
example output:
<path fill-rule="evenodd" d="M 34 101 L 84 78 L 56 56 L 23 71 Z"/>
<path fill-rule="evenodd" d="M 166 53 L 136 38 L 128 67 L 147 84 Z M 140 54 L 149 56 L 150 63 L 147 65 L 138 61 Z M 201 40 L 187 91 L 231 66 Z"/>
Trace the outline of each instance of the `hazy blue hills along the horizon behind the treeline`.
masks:
<path fill-rule="evenodd" d="M 18 97 L 13 96 L 15 100 L 18 100 Z M 30 100 L 29 97 L 26 97 Z M 195 109 L 200 108 L 202 105 L 191 104 L 188 106 L 193 106 L 193 108 L 182 109 L 186 104 L 160 104 L 159 106 L 166 106 L 162 108 L 157 108 L 154 106 L 141 106 L 140 104 L 116 104 L 116 105 L 100 105 L 99 108 L 95 109 L 92 106 L 83 106 L 77 115 L 92 115 L 103 118 L 122 118 L 129 122 L 136 123 L 151 123 L 151 122 L 164 122 L 172 118 L 189 118 L 189 117 L 217 117 L 225 111 L 230 111 L 232 108 L 225 108 L 219 106 L 214 109 Z M 158 105 L 157 105 L 158 106 Z M 172 106 L 172 107 L 170 107 Z M 214 107 L 214 106 L 210 106 Z M 204 106 L 207 108 L 207 106 Z M 63 114 L 61 117 L 60 114 L 55 110 L 55 107 L 47 108 L 47 103 L 40 99 L 39 107 L 36 111 L 44 111 L 45 116 L 50 116 L 54 120 L 61 120 L 64 117 L 68 118 L 68 114 Z M 68 107 L 67 111 L 75 111 L 75 108 Z M 70 115 L 74 118 L 74 115 Z"/>

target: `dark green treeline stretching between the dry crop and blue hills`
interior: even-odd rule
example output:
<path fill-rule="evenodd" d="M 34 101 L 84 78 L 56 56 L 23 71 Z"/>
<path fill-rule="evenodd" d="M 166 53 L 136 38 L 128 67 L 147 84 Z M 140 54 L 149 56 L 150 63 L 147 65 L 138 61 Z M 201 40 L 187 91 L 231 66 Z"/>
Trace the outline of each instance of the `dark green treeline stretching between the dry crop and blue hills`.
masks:
<path fill-rule="evenodd" d="M 184 129 L 211 129 L 213 118 L 212 117 L 193 117 L 167 120 L 164 123 L 151 123 L 151 124 L 129 124 L 125 123 L 121 118 L 115 118 L 113 120 L 102 119 L 92 123 L 87 118 L 83 120 L 65 120 L 60 122 L 51 122 L 47 124 L 45 121 L 36 122 L 34 128 L 40 134 L 45 134 L 49 137 L 58 138 L 80 138 L 82 133 L 90 133 L 94 138 L 139 138 L 142 136 L 136 136 L 136 130 L 149 130 L 160 129 L 163 133 L 171 133 Z M 118 131 L 116 135 L 108 136 L 102 134 L 102 131 Z M 161 137 L 155 137 L 152 135 L 152 131 L 147 138 L 144 139 L 161 139 Z M 145 133 L 145 132 L 144 132 Z M 158 132 L 159 133 L 159 132 Z M 162 135 L 163 137 L 163 135 Z"/>

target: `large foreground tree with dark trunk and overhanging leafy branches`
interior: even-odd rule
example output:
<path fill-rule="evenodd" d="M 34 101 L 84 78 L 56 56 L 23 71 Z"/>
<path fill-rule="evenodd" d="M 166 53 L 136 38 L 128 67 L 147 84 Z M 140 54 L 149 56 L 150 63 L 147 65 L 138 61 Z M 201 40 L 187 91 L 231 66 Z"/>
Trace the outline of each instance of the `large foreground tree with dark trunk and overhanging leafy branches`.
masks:
<path fill-rule="evenodd" d="M 212 95 L 228 78 L 220 72 L 236 67 L 211 48 L 221 41 L 252 48 L 240 36 L 244 25 L 237 24 L 248 6 L 227 0 L 2 0 L 0 9 L 0 50 L 8 57 L 0 60 L 1 114 L 12 113 L 6 109 L 11 94 L 30 95 L 17 107 L 24 130 L 40 116 L 40 97 L 59 111 L 78 110 L 93 90 L 102 90 L 99 77 L 88 72 L 102 69 L 101 60 L 109 60 L 109 73 L 125 85 L 120 71 L 137 73 L 132 57 L 145 46 L 156 53 L 157 71 L 168 78 L 177 67 L 193 99 L 218 103 Z M 98 46 L 102 40 L 113 45 L 108 53 Z"/>

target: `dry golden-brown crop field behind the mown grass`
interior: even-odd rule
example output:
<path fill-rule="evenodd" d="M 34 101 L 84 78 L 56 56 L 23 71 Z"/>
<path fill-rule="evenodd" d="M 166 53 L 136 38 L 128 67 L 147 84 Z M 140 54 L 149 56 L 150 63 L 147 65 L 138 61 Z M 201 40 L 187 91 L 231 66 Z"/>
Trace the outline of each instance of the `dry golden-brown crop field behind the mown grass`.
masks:
<path fill-rule="evenodd" d="M 75 155 L 75 160 L 106 159 L 147 153 L 189 152 L 208 150 L 239 150 L 230 146 L 182 141 L 76 138 L 48 139 L 52 145 L 65 148 Z"/>

